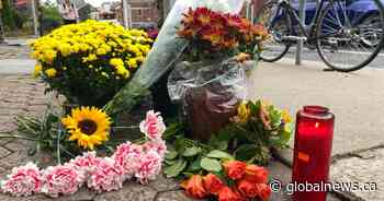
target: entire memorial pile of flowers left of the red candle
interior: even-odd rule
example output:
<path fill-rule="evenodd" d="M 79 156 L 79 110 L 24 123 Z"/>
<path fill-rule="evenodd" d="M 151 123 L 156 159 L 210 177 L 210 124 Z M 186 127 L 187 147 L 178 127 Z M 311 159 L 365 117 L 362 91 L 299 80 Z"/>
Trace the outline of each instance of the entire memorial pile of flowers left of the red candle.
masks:
<path fill-rule="evenodd" d="M 203 1 L 191 2 L 199 5 Z M 219 12 L 235 13 L 233 7 L 217 9 L 221 7 L 216 3 L 215 9 L 215 3 L 212 1 L 212 8 L 217 11 L 200 5 L 189 9 L 181 23 L 166 21 L 165 28 L 179 31 L 173 35 L 161 31 L 157 38 L 160 42 L 150 54 L 153 40 L 146 33 L 95 21 L 65 25 L 32 43 L 32 55 L 37 60 L 34 75 L 48 83 L 48 91 L 64 95 L 71 109 L 58 115 L 49 107 L 41 119 L 18 118 L 19 131 L 26 134 L 23 139 L 36 142 L 32 151 L 50 151 L 57 165 L 38 168 L 27 163 L 15 167 L 0 182 L 1 191 L 56 198 L 86 186 L 101 193 L 121 189 L 125 181 L 148 184 L 162 170 L 167 177 L 179 179 L 192 198 L 267 201 L 271 189 L 267 185 L 269 173 L 262 166 L 268 164 L 270 149 L 285 147 L 292 118 L 271 104 L 238 96 L 239 88 L 246 88 L 244 63 L 249 58 L 258 59 L 268 34 L 261 25 Z M 173 14 L 181 16 L 174 10 Z M 177 45 L 187 49 L 174 48 Z M 168 70 L 160 67 L 169 68 L 181 52 L 194 62 L 188 67 L 197 67 L 189 70 L 199 71 L 180 71 L 182 79 L 176 78 L 194 84 L 193 91 L 181 90 L 188 93 L 180 96 L 188 97 L 184 103 L 194 104 L 185 110 L 196 120 L 194 125 L 179 121 L 166 127 L 160 114 L 150 110 L 138 126 L 129 127 L 144 133 L 143 139 L 110 145 L 116 129 L 112 115 L 139 103 L 147 87 Z M 149 67 L 139 68 L 145 60 Z M 219 62 L 199 67 L 204 60 Z M 192 83 L 183 75 L 195 80 Z M 104 109 L 99 109 L 109 100 Z M 217 119 L 219 122 L 208 125 Z M 203 127 L 210 129 L 199 130 Z M 195 138 L 191 129 L 204 131 L 204 139 Z"/>

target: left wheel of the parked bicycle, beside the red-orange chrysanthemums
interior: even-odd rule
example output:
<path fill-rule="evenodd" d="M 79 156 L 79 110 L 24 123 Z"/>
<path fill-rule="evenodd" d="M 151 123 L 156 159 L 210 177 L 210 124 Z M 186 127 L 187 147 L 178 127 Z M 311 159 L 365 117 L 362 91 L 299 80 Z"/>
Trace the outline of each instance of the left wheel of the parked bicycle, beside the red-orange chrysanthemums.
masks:
<path fill-rule="evenodd" d="M 263 50 L 260 59 L 274 62 L 284 57 L 291 45 L 283 40 L 283 36 L 292 34 L 291 19 L 286 11 L 275 1 L 267 3 L 258 15 L 258 22 L 262 23 L 270 37 L 262 44 Z"/>

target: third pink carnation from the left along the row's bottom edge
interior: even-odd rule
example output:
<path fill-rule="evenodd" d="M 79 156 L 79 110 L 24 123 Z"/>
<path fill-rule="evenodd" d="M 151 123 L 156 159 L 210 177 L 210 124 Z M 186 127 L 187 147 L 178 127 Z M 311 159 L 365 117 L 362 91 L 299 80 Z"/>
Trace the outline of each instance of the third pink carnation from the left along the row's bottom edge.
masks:
<path fill-rule="evenodd" d="M 93 188 L 98 192 L 112 191 L 123 188 L 123 168 L 115 166 L 112 158 L 105 157 L 100 161 L 95 169 L 91 173 L 88 187 Z"/>

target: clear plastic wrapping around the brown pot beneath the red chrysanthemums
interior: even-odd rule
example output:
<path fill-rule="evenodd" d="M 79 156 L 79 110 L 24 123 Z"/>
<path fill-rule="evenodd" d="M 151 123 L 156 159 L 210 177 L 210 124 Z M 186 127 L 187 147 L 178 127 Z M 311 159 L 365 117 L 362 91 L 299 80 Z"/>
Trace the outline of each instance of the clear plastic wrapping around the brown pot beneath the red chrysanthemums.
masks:
<path fill-rule="evenodd" d="M 235 59 L 211 62 L 181 62 L 169 76 L 173 102 L 183 106 L 193 139 L 208 140 L 229 123 L 240 99 L 247 97 L 245 64 Z"/>

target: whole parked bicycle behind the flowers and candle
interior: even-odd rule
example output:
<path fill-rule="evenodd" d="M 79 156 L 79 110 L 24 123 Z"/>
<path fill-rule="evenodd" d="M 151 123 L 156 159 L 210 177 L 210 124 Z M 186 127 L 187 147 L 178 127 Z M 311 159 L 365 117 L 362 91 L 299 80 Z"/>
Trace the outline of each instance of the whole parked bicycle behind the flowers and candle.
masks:
<path fill-rule="evenodd" d="M 359 1 L 370 3 L 372 12 L 355 11 L 353 3 Z M 304 39 L 329 68 L 351 72 L 369 64 L 384 47 L 384 7 L 380 0 L 317 0 L 308 25 L 301 23 L 291 1 L 271 0 L 258 19 L 271 35 L 260 55 L 269 62 L 280 60 L 292 45 Z"/>

